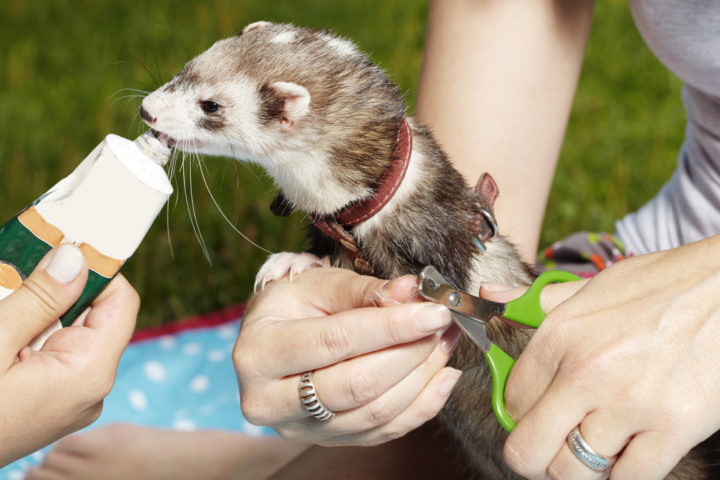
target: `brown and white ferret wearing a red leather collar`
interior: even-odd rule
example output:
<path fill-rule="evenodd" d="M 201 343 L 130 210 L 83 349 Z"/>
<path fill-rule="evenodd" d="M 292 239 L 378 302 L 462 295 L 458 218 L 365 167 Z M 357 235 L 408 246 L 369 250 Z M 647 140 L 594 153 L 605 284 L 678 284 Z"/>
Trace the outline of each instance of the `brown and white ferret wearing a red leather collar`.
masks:
<path fill-rule="evenodd" d="M 496 234 L 492 179 L 469 188 L 430 130 L 406 115 L 385 72 L 329 31 L 252 23 L 190 60 L 143 100 L 140 115 L 176 148 L 264 167 L 280 189 L 275 213 L 310 213 L 309 253 L 271 257 L 260 287 L 322 259 L 381 278 L 434 265 L 469 292 L 485 282 L 527 285 L 534 278 Z M 400 156 L 405 170 L 385 203 L 361 212 L 359 222 L 340 222 L 387 190 Z M 488 335 L 517 358 L 530 331 L 495 319 Z M 478 478 L 518 478 L 503 460 L 507 433 L 491 408 L 482 352 L 463 340 L 450 364 L 464 374 L 438 418 L 461 446 L 461 461 Z M 704 464 L 691 452 L 671 478 L 711 478 Z"/>

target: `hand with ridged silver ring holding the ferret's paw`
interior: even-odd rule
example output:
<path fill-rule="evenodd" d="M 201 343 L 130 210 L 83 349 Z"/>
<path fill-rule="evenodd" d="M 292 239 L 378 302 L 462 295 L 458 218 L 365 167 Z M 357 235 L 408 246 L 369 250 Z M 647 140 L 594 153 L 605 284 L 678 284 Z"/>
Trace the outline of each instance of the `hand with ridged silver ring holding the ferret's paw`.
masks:
<path fill-rule="evenodd" d="M 291 440 L 374 445 L 434 417 L 460 376 L 445 367 L 460 332 L 416 292 L 413 276 L 386 282 L 337 268 L 269 283 L 251 299 L 233 352 L 246 418 Z M 300 401 L 306 371 L 337 414 L 329 421 Z"/>

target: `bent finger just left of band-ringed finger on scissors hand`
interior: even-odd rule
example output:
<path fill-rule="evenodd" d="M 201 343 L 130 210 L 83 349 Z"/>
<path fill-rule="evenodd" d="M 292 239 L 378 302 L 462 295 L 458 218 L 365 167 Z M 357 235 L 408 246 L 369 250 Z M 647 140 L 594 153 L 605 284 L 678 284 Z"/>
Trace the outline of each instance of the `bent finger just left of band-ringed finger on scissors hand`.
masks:
<path fill-rule="evenodd" d="M 505 441 L 505 461 L 521 476 L 544 478 L 548 465 L 563 447 L 567 434 L 580 424 L 590 410 L 578 401 L 581 388 L 568 383 L 554 382 L 520 418 Z"/>

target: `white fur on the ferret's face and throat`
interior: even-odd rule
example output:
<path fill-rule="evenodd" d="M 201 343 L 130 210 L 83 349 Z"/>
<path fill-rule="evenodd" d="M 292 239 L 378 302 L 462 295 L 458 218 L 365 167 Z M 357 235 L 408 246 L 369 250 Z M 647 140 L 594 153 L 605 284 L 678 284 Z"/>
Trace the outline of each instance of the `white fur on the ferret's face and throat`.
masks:
<path fill-rule="evenodd" d="M 284 93 L 306 93 L 298 85 L 277 83 Z M 148 95 L 143 106 L 157 118 L 151 126 L 175 139 L 181 150 L 258 163 L 304 210 L 331 213 L 367 193 L 361 187 L 353 192 L 342 188 L 326 153 L 308 149 L 306 139 L 288 137 L 279 128 L 260 125 L 257 91 L 257 85 L 238 74 L 226 82 L 200 83 L 171 91 L 162 87 Z M 200 105 L 205 100 L 220 105 L 218 113 L 224 128 L 208 130 L 199 126 L 207 116 Z M 307 101 L 300 103 L 297 107 L 307 110 Z"/>

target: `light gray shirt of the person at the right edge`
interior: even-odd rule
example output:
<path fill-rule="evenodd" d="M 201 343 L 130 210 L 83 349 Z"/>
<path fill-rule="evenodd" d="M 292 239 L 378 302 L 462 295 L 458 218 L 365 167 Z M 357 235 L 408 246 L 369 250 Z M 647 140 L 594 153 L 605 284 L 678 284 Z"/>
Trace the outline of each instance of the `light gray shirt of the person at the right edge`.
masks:
<path fill-rule="evenodd" d="M 630 0 L 652 52 L 684 83 L 685 141 L 670 180 L 615 223 L 628 253 L 720 233 L 720 0 Z"/>

